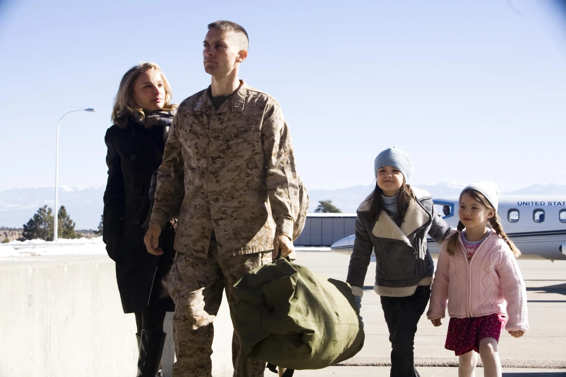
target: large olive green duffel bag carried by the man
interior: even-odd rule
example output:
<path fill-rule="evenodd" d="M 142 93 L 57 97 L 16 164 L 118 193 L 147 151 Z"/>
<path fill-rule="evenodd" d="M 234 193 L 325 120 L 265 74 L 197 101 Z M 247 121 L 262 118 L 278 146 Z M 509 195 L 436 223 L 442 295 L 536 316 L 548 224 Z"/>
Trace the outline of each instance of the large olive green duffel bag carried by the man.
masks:
<path fill-rule="evenodd" d="M 234 294 L 234 330 L 244 358 L 289 370 L 321 369 L 362 349 L 362 323 L 344 281 L 278 259 L 244 275 Z"/>

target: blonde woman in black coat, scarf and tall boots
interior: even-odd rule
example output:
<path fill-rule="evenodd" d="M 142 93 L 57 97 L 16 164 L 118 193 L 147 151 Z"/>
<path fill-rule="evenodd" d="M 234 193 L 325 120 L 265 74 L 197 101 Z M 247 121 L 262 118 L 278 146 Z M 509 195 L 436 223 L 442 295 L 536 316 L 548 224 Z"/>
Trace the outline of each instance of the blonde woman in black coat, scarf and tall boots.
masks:
<path fill-rule="evenodd" d="M 116 262 L 124 313 L 134 313 L 139 344 L 138 377 L 156 376 L 165 343 L 163 321 L 174 311 L 166 281 L 175 251 L 173 223 L 160 236 L 162 255 L 152 255 L 143 237 L 153 206 L 156 170 L 177 105 L 155 63 L 141 63 L 122 77 L 112 122 L 104 138 L 108 183 L 104 192 L 102 239 Z"/>

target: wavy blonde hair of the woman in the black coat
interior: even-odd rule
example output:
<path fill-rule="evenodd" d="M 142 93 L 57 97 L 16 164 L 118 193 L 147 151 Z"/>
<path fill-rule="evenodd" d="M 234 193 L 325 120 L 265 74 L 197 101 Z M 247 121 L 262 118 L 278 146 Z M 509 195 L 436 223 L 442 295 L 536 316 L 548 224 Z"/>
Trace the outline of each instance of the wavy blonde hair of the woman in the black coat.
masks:
<path fill-rule="evenodd" d="M 126 128 L 128 116 L 138 113 L 140 115 L 139 119 L 145 118 L 143 109 L 136 105 L 136 102 L 134 101 L 134 83 L 141 73 L 149 70 L 155 70 L 161 75 L 161 79 L 163 80 L 165 98 L 162 110 L 173 111 L 174 109 L 177 109 L 177 105 L 170 103 L 171 97 L 173 97 L 173 92 L 171 92 L 171 85 L 169 85 L 169 81 L 167 81 L 164 73 L 161 71 L 161 68 L 156 63 L 152 62 L 140 63 L 137 66 L 131 67 L 122 77 L 122 81 L 120 81 L 118 93 L 114 98 L 112 123 L 119 125 L 122 128 Z"/>

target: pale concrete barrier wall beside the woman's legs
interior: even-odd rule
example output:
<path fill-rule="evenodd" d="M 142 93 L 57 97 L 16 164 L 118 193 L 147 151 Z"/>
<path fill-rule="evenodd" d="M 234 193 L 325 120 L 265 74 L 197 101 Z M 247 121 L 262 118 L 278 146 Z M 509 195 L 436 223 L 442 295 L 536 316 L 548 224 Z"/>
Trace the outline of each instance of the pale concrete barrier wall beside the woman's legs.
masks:
<path fill-rule="evenodd" d="M 122 312 L 108 257 L 0 261 L 0 305 L 0 377 L 135 376 L 135 318 Z M 232 369 L 225 301 L 215 335 L 213 375 L 220 375 Z M 172 358 L 169 350 L 164 371 Z"/>

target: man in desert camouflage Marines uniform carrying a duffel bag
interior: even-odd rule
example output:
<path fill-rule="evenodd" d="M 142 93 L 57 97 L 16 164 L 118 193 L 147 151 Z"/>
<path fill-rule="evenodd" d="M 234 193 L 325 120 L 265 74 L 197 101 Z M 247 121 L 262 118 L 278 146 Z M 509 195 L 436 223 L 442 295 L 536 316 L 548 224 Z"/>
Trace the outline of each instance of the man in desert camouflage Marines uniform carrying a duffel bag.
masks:
<path fill-rule="evenodd" d="M 169 278 L 174 377 L 211 376 L 212 323 L 222 291 L 231 311 L 233 285 L 243 274 L 271 262 L 273 250 L 293 252 L 299 208 L 293 144 L 280 106 L 238 80 L 246 31 L 230 21 L 208 29 L 203 55 L 212 85 L 179 105 L 145 235 L 148 252 L 160 254 L 161 227 L 178 218 Z M 236 336 L 233 360 L 234 376 L 241 376 Z M 248 359 L 250 377 L 264 370 L 264 363 Z"/>

